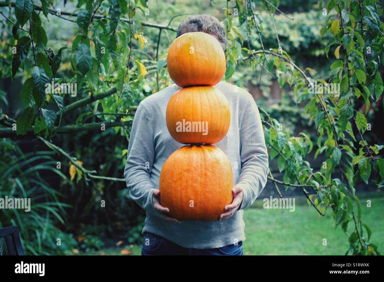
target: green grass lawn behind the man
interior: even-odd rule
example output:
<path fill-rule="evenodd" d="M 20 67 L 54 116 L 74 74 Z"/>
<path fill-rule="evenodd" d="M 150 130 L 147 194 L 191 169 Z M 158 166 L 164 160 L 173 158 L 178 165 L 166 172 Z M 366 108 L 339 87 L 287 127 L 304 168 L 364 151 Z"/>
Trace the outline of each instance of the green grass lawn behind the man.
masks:
<path fill-rule="evenodd" d="M 370 242 L 384 254 L 384 197 L 361 199 L 363 222 L 372 230 Z M 370 199 L 371 207 L 366 206 Z M 245 209 L 245 255 L 344 255 L 348 250 L 348 236 L 338 226 L 335 229 L 332 210 L 321 217 L 305 198 L 296 198 L 294 212 L 282 209 L 263 209 L 263 201 L 256 201 Z M 353 230 L 349 223 L 348 232 Z M 366 231 L 364 229 L 364 235 Z M 326 239 L 326 246 L 323 246 Z M 88 254 L 119 255 L 122 249 L 141 254 L 141 245 L 104 249 Z"/>

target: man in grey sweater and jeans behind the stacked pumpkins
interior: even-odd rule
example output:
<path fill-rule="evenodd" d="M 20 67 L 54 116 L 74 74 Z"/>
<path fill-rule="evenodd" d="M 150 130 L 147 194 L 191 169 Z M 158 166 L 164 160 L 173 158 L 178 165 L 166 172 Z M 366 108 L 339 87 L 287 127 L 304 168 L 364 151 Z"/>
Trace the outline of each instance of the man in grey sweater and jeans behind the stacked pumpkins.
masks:
<path fill-rule="evenodd" d="M 177 37 L 202 31 L 213 35 L 225 50 L 225 32 L 217 18 L 194 15 L 181 21 Z M 231 123 L 227 135 L 214 145 L 229 158 L 234 178 L 233 201 L 217 221 L 171 218 L 161 205 L 159 177 L 162 165 L 183 144 L 166 125 L 166 107 L 180 89 L 173 84 L 141 101 L 132 124 L 124 176 L 131 198 L 146 210 L 142 255 L 242 255 L 245 240 L 243 209 L 263 190 L 268 174 L 268 153 L 255 100 L 245 90 L 221 81 L 217 87 L 227 97 Z"/>

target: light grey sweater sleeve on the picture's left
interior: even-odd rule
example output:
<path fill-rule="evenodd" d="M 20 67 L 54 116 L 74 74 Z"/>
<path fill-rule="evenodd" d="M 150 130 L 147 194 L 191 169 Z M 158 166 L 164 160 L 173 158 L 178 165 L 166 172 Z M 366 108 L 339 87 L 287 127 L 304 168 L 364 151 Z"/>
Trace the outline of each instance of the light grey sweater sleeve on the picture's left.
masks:
<path fill-rule="evenodd" d="M 147 109 L 142 103 L 139 104 L 132 123 L 124 177 L 132 200 L 147 212 L 157 215 L 152 202 L 152 192 L 156 187 L 150 175 L 155 149 L 153 127 L 149 117 Z"/>

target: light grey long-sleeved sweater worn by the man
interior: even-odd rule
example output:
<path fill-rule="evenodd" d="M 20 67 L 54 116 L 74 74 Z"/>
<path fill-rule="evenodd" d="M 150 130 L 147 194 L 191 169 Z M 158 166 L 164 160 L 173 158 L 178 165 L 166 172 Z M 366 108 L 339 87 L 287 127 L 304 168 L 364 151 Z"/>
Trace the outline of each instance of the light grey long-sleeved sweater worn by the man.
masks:
<path fill-rule="evenodd" d="M 186 248 L 212 249 L 245 240 L 243 209 L 256 200 L 267 180 L 268 153 L 255 100 L 247 91 L 224 81 L 215 87 L 228 99 L 231 122 L 227 135 L 214 145 L 232 164 L 233 185 L 243 188 L 242 204 L 231 218 L 178 224 L 162 219 L 153 207 L 152 192 L 159 189 L 164 162 L 184 146 L 172 139 L 166 125 L 167 103 L 180 87 L 173 84 L 141 101 L 129 140 L 124 176 L 129 195 L 146 210 L 143 233 L 157 234 Z"/>

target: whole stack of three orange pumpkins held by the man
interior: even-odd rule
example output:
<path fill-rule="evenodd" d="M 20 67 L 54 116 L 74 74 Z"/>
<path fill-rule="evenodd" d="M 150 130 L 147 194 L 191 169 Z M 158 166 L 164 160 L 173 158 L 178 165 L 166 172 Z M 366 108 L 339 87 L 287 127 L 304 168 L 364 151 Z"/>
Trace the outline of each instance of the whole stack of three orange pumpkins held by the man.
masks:
<path fill-rule="evenodd" d="M 169 75 L 184 88 L 168 102 L 167 128 L 177 142 L 189 145 L 166 160 L 159 190 L 161 205 L 180 221 L 217 220 L 232 203 L 230 161 L 210 145 L 222 140 L 230 125 L 228 100 L 213 87 L 223 78 L 225 64 L 222 46 L 204 32 L 179 36 L 168 51 Z"/>

